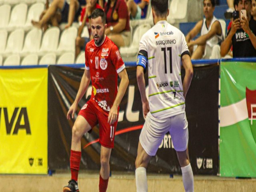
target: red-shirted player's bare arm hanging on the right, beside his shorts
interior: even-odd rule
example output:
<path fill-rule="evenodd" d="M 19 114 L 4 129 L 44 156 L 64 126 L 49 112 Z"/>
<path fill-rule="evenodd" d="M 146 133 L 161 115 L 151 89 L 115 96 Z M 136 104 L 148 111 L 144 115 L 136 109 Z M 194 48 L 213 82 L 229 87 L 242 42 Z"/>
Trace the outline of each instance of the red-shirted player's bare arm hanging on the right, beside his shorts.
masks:
<path fill-rule="evenodd" d="M 129 84 L 129 79 L 128 79 L 128 75 L 125 68 L 120 73 L 118 73 L 118 76 L 121 79 L 121 82 L 119 84 L 119 88 L 118 88 L 118 92 L 117 92 L 114 104 L 111 107 L 110 112 L 108 114 L 108 123 L 110 125 L 112 125 L 114 122 L 117 121 L 118 106 L 120 105 L 121 100 L 124 97 L 124 94 Z"/>

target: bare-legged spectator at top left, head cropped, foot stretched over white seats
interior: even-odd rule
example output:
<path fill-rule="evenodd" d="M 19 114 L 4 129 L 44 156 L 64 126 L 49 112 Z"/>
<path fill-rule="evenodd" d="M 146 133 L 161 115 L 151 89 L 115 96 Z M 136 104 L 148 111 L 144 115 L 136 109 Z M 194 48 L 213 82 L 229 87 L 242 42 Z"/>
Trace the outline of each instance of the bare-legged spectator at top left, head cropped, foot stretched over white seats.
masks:
<path fill-rule="evenodd" d="M 70 0 L 70 4 L 66 0 L 46 0 L 46 4 L 49 4 L 49 2 L 51 4 L 47 10 L 44 10 L 41 19 L 38 22 L 31 21 L 33 26 L 42 28 L 51 21 L 52 26 L 58 26 L 64 22 L 67 23 L 65 28 L 69 28 L 73 21 L 77 21 L 82 10 L 80 4 L 83 4 L 84 0 Z"/>

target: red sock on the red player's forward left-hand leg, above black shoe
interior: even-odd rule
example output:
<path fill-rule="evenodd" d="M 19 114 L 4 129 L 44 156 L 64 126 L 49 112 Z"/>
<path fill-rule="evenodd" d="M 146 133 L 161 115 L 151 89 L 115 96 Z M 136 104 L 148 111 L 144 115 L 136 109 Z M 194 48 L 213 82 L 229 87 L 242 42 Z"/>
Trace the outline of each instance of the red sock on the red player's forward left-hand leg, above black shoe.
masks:
<path fill-rule="evenodd" d="M 71 150 L 71 154 L 70 154 L 71 179 L 74 179 L 75 181 L 78 180 L 80 160 L 81 160 L 81 152 Z"/>

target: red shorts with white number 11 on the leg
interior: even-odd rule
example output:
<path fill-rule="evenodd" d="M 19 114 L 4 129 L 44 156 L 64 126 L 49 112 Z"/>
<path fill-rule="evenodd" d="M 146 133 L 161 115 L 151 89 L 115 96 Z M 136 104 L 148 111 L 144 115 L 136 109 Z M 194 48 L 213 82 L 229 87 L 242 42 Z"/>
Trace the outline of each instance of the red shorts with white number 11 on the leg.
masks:
<path fill-rule="evenodd" d="M 91 128 L 99 124 L 100 144 L 107 148 L 114 148 L 114 138 L 118 120 L 110 126 L 108 116 L 98 110 L 92 100 L 89 100 L 82 107 L 78 115 L 83 116 L 90 124 Z"/>

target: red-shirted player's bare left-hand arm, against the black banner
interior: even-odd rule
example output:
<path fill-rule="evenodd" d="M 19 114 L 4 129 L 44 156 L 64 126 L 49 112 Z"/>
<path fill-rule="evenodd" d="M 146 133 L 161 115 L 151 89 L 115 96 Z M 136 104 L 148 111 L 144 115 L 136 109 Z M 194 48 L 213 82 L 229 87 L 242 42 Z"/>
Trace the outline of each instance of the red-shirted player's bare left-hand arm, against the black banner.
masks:
<path fill-rule="evenodd" d="M 84 74 L 82 76 L 80 86 L 78 89 L 78 92 L 76 94 L 76 99 L 74 100 L 74 103 L 70 106 L 67 114 L 67 119 L 70 120 L 70 115 L 72 118 L 74 118 L 74 114 L 76 112 L 76 108 L 78 106 L 78 103 L 80 102 L 81 98 L 84 96 L 91 80 L 90 70 L 84 69 Z"/>

